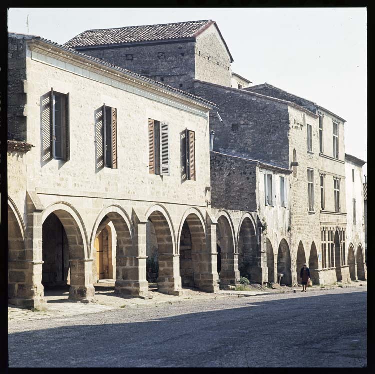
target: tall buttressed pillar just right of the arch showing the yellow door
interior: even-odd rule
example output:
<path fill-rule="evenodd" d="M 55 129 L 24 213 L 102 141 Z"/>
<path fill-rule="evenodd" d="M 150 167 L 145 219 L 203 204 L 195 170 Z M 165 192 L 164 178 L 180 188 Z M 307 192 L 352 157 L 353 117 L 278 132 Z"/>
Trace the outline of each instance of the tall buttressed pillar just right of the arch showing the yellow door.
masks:
<path fill-rule="evenodd" d="M 146 279 L 146 223 L 135 220 L 134 236 L 131 248 L 117 251 L 116 283 L 114 291 L 117 294 L 133 295 L 150 298 Z M 118 240 L 118 237 L 117 237 Z M 122 255 L 120 253 L 125 253 Z"/>

